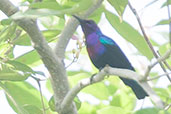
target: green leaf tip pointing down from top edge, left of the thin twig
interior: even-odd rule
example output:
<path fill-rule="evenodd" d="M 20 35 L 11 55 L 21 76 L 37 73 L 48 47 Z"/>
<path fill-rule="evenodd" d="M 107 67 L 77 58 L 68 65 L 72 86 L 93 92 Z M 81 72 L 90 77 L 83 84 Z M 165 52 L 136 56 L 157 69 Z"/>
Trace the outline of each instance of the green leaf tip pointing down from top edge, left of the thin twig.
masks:
<path fill-rule="evenodd" d="M 108 2 L 115 8 L 120 17 L 128 4 L 128 0 L 108 0 Z"/>

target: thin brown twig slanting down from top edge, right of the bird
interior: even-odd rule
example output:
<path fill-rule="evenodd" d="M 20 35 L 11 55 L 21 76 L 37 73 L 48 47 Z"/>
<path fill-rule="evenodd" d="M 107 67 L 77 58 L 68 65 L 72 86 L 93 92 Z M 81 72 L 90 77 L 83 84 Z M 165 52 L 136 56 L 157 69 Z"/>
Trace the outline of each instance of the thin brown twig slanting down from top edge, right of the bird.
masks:
<path fill-rule="evenodd" d="M 137 21 L 138 21 L 138 24 L 139 24 L 139 26 L 140 26 L 140 28 L 141 28 L 142 34 L 143 34 L 143 36 L 144 36 L 144 38 L 145 38 L 145 40 L 146 40 L 148 46 L 150 47 L 151 51 L 153 52 L 154 57 L 155 57 L 156 59 L 158 59 L 159 56 L 156 54 L 156 52 L 155 52 L 155 50 L 154 50 L 152 44 L 150 43 L 149 38 L 147 37 L 147 35 L 146 35 L 146 33 L 145 33 L 145 30 L 144 30 L 144 28 L 143 28 L 143 26 L 142 26 L 141 20 L 140 20 L 140 18 L 139 18 L 139 16 L 138 16 L 138 13 L 137 13 L 137 11 L 132 7 L 132 5 L 130 4 L 129 0 L 128 0 L 128 6 L 129 6 L 129 8 L 131 9 L 131 11 L 133 12 L 133 14 L 135 15 L 135 17 L 137 18 Z M 164 68 L 164 65 L 163 65 L 161 62 L 159 62 L 159 64 L 160 64 L 161 68 L 163 69 L 163 71 L 167 74 L 167 71 L 166 71 L 166 69 Z M 168 80 L 171 82 L 171 78 L 169 77 L 169 75 L 166 75 L 166 76 L 167 76 Z"/>

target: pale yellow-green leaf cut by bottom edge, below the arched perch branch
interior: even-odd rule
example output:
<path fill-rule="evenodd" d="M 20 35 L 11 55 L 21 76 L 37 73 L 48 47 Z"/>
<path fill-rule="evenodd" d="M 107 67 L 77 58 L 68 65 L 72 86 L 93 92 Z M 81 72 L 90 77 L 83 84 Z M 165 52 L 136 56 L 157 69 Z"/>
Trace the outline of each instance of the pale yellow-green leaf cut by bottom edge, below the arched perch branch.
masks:
<path fill-rule="evenodd" d="M 124 108 L 108 106 L 98 110 L 97 114 L 126 114 L 126 111 L 124 110 Z"/>

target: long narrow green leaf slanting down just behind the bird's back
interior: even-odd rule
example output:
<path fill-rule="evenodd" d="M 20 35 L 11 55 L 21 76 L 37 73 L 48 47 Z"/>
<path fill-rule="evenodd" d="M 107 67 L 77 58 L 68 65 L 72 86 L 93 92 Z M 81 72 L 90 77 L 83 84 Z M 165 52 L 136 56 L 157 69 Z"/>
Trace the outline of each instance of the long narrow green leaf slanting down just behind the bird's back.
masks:
<path fill-rule="evenodd" d="M 145 55 L 149 60 L 153 58 L 150 48 L 148 47 L 143 36 L 137 30 L 125 21 L 120 22 L 119 18 L 115 14 L 107 10 L 105 11 L 105 15 L 113 28 L 115 28 L 115 30 L 123 38 L 132 43 L 139 50 L 139 52 Z"/>

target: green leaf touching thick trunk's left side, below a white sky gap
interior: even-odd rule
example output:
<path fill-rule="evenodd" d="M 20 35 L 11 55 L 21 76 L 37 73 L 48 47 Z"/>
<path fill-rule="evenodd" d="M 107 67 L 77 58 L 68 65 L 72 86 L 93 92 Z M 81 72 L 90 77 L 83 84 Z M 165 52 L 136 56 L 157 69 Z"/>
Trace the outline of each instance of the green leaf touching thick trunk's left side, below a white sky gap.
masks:
<path fill-rule="evenodd" d="M 40 56 L 35 50 L 29 51 L 17 57 L 15 61 L 24 63 L 28 66 L 37 66 L 41 64 Z"/>

